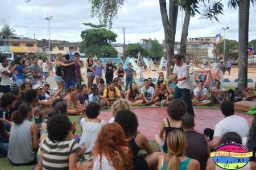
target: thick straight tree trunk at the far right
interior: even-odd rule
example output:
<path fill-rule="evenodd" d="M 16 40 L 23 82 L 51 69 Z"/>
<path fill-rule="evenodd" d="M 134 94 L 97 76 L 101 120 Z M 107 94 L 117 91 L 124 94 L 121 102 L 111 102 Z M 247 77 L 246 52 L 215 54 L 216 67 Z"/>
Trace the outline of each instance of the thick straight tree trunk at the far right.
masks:
<path fill-rule="evenodd" d="M 250 0 L 239 0 L 239 35 L 238 35 L 238 92 L 247 88 L 248 69 L 248 31 Z"/>

